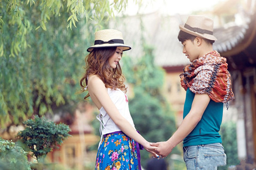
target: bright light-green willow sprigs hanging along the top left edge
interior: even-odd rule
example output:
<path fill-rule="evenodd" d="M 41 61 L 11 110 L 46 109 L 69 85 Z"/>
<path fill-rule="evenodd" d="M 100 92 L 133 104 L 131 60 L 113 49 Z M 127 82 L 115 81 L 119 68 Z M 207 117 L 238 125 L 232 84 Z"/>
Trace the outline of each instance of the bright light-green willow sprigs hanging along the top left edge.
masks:
<path fill-rule="evenodd" d="M 98 28 L 101 28 L 102 22 L 114 17 L 114 10 L 121 10 L 126 7 L 127 0 L 114 1 L 34 1 L 27 0 L 4 0 L 0 2 L 0 31 L 4 33 L 0 41 L 0 57 L 8 54 L 15 57 L 20 51 L 27 48 L 26 36 L 30 34 L 31 29 L 46 31 L 49 21 L 58 18 L 61 15 L 67 15 L 62 22 L 67 28 L 76 27 L 79 20 L 94 20 Z M 114 10 L 113 10 L 114 9 Z M 34 15 L 31 15 L 33 12 Z M 35 13 L 34 13 L 35 12 Z M 10 48 L 6 45 L 4 37 L 8 33 L 11 42 Z M 6 39 L 5 39 L 6 40 Z"/>

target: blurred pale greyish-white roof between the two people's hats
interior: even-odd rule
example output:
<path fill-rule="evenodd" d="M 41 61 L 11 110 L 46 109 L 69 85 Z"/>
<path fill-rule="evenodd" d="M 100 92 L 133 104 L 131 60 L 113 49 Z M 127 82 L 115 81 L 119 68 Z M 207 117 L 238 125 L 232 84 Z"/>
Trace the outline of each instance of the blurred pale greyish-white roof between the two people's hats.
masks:
<path fill-rule="evenodd" d="M 187 16 L 185 16 L 186 18 Z M 141 22 L 144 31 L 141 32 Z M 132 46 L 125 55 L 137 58 L 142 56 L 141 43 L 154 47 L 155 62 L 159 66 L 184 66 L 189 60 L 182 53 L 182 44 L 177 36 L 181 16 L 160 16 L 158 12 L 116 18 L 110 23 L 110 28 L 123 33 L 124 42 Z"/>

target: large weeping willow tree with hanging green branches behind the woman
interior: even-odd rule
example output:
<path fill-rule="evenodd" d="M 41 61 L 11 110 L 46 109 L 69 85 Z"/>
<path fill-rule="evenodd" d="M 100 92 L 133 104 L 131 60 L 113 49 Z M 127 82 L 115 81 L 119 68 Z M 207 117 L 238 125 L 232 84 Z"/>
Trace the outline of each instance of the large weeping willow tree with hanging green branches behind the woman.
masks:
<path fill-rule="evenodd" d="M 0 126 L 82 100 L 86 47 L 127 2 L 0 1 Z"/>

